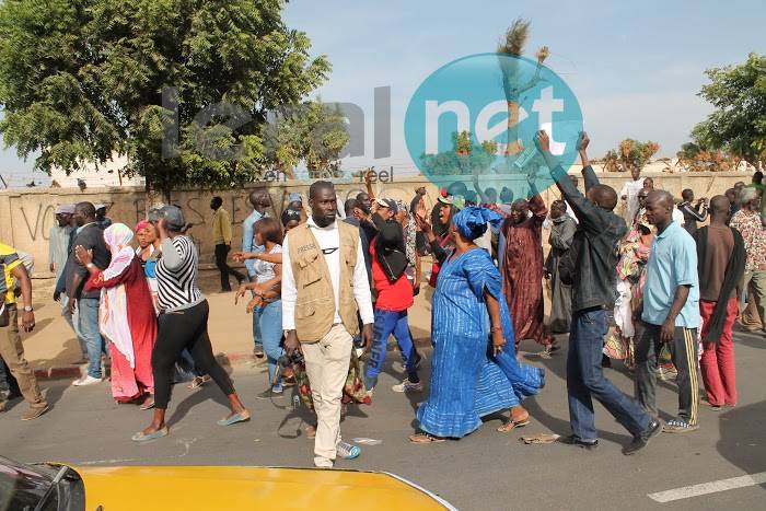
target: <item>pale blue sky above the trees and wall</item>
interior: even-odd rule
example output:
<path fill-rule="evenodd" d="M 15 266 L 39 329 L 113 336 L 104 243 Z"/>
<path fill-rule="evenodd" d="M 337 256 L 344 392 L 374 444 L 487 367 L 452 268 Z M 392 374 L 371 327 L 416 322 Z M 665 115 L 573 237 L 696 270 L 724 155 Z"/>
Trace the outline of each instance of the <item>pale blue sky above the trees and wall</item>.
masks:
<path fill-rule="evenodd" d="M 289 26 L 302 30 L 312 51 L 333 63 L 317 93 L 365 113 L 365 155 L 347 169 L 374 164 L 413 167 L 403 142 L 410 95 L 439 67 L 492 51 L 517 16 L 532 21 L 527 54 L 550 48 L 546 65 L 574 91 L 595 156 L 626 137 L 652 139 L 673 155 L 710 111 L 696 94 L 705 70 L 766 53 L 766 2 L 712 1 L 340 1 L 292 0 Z M 372 152 L 373 89 L 391 86 L 392 156 Z M 13 149 L 0 154 L 3 175 L 28 175 Z"/>

